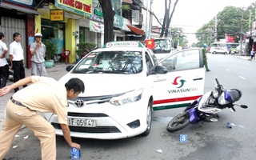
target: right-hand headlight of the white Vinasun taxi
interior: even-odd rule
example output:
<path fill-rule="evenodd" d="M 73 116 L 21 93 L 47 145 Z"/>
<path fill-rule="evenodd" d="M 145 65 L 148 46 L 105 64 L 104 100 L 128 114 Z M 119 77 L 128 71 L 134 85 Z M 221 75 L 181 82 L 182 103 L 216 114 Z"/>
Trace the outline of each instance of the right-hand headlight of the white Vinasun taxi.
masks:
<path fill-rule="evenodd" d="M 110 99 L 110 103 L 114 106 L 121 106 L 129 102 L 136 102 L 142 98 L 143 89 L 132 90 L 126 94 Z"/>

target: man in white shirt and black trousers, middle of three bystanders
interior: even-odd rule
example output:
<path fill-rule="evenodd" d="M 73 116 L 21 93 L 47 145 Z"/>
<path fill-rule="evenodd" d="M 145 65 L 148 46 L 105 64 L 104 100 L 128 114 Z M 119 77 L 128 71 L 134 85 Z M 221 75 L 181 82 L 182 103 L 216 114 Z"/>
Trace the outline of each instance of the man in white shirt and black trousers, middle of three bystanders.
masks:
<path fill-rule="evenodd" d="M 13 35 L 14 42 L 10 43 L 10 51 L 9 51 L 9 57 L 10 57 L 10 64 L 11 69 L 14 70 L 14 82 L 18 82 L 18 80 L 25 78 L 25 69 L 24 69 L 24 55 L 23 55 L 23 49 L 22 45 L 20 43 L 21 41 L 21 34 L 18 32 L 15 32 Z M 27 85 L 24 85 L 23 88 L 25 88 Z M 18 87 L 14 89 L 14 92 L 18 91 Z"/>

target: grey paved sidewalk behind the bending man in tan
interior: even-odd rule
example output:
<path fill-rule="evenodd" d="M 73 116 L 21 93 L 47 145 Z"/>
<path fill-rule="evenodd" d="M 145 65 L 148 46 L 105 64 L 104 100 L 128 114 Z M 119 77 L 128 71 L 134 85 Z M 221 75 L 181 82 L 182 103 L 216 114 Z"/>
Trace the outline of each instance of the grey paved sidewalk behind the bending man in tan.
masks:
<path fill-rule="evenodd" d="M 54 66 L 51 68 L 47 68 L 47 75 L 50 78 L 54 78 L 58 80 L 59 78 L 62 78 L 64 74 L 67 73 L 66 66 L 69 66 L 72 64 L 65 64 L 64 62 L 54 62 Z M 26 76 L 30 76 L 31 69 L 25 69 Z M 13 82 L 8 81 L 6 86 L 11 85 Z M 22 87 L 20 87 L 22 89 Z M 4 121 L 4 111 L 6 107 L 6 102 L 10 99 L 10 97 L 14 94 L 14 90 L 10 91 L 9 94 L 6 94 L 3 97 L 0 97 L 0 130 L 2 130 L 2 122 Z"/>

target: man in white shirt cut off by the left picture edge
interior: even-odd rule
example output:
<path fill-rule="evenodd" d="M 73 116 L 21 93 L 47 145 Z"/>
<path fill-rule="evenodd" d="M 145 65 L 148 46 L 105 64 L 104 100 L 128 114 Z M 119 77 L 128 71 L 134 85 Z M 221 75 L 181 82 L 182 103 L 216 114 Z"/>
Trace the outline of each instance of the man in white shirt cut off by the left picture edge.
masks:
<path fill-rule="evenodd" d="M 5 34 L 0 32 L 0 76 L 2 76 L 2 82 L 0 79 L 0 89 L 6 86 L 6 82 L 9 77 L 9 64 L 6 61 L 6 53 L 8 52 L 8 48 L 5 42 Z"/>

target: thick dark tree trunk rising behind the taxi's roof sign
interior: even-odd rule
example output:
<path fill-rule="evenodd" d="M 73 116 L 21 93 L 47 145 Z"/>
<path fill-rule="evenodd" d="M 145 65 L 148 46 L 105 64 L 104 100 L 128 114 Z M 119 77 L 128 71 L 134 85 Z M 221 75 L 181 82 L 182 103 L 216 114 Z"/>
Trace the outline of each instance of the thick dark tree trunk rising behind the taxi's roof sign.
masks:
<path fill-rule="evenodd" d="M 104 44 L 106 42 L 114 41 L 114 10 L 112 8 L 111 0 L 98 0 L 102 6 L 104 18 Z"/>

